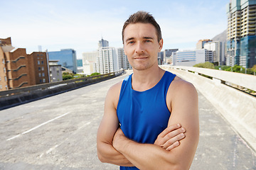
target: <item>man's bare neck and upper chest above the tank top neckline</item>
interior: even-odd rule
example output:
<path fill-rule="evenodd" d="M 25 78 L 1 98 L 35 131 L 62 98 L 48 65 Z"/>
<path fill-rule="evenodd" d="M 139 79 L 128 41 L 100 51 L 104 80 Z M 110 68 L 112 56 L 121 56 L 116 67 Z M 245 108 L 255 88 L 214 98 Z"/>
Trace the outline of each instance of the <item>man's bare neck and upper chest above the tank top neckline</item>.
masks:
<path fill-rule="evenodd" d="M 134 69 L 132 75 L 132 89 L 135 91 L 146 91 L 154 87 L 163 77 L 164 70 L 158 65 L 146 70 Z"/>

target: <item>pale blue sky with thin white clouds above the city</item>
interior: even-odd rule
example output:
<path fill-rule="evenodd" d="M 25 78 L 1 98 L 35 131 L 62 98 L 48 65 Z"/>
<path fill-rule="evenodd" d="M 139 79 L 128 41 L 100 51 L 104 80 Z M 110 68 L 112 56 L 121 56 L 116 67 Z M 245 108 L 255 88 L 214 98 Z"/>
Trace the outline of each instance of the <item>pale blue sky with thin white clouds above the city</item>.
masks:
<path fill-rule="evenodd" d="M 123 47 L 122 26 L 132 13 L 147 11 L 161 27 L 165 49 L 193 50 L 228 26 L 230 0 L 0 0 L 0 38 L 11 37 L 26 52 L 97 50 L 103 38 Z"/>

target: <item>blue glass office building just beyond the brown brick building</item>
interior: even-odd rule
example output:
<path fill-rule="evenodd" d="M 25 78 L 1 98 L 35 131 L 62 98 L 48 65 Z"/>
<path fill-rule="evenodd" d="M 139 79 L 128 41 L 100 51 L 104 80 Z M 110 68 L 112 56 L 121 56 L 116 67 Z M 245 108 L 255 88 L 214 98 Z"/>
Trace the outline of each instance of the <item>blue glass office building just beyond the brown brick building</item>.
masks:
<path fill-rule="evenodd" d="M 49 60 L 60 60 L 58 64 L 67 69 L 78 72 L 76 52 L 73 49 L 63 49 L 55 52 L 48 52 Z"/>

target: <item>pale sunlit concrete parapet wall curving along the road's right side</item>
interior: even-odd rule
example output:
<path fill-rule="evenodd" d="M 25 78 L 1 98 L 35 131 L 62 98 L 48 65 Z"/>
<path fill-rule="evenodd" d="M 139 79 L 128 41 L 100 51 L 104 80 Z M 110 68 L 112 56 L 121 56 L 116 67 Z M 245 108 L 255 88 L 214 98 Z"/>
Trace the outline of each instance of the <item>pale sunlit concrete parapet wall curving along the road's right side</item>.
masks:
<path fill-rule="evenodd" d="M 162 67 L 191 82 L 233 128 L 256 150 L 256 98 L 198 74 Z M 206 74 L 208 75 L 208 74 Z"/>

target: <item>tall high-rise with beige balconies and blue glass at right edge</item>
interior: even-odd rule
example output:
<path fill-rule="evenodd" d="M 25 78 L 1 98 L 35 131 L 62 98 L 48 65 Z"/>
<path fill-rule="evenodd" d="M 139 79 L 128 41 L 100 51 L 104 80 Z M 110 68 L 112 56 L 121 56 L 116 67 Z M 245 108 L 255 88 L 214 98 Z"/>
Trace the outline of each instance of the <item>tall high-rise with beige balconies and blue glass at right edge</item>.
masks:
<path fill-rule="evenodd" d="M 256 1 L 231 0 L 227 14 L 226 64 L 252 67 L 256 64 Z"/>

